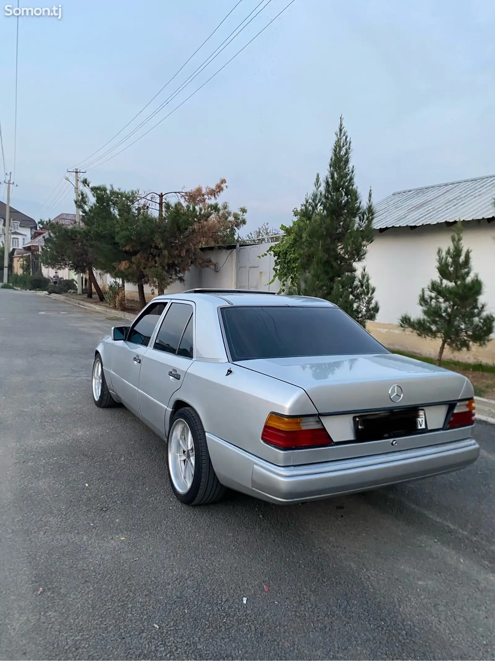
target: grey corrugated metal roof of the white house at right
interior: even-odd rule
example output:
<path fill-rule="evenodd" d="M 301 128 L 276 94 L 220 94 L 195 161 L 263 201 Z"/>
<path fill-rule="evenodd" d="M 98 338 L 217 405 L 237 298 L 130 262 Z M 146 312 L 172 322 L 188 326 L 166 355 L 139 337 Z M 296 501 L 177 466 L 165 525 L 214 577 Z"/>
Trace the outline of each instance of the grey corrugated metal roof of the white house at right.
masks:
<path fill-rule="evenodd" d="M 400 190 L 375 205 L 373 227 L 417 227 L 495 217 L 495 175 Z"/>

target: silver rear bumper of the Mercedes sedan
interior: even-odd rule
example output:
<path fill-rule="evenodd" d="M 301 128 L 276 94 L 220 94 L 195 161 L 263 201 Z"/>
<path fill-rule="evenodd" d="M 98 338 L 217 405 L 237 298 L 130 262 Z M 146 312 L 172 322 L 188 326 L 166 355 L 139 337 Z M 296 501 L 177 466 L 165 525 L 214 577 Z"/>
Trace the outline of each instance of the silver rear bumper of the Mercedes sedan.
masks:
<path fill-rule="evenodd" d="M 268 500 L 291 503 L 457 471 L 476 461 L 480 448 L 468 438 L 435 446 L 303 466 L 277 466 L 207 434 L 211 463 L 225 486 Z"/>

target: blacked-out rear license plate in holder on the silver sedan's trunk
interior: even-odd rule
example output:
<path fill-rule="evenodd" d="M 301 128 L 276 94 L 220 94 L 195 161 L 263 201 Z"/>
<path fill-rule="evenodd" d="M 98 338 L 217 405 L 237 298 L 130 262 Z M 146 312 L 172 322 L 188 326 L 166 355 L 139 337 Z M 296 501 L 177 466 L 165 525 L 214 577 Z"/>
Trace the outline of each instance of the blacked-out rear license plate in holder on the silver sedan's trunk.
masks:
<path fill-rule="evenodd" d="M 426 432 L 424 408 L 407 408 L 354 416 L 356 441 L 380 441 Z"/>

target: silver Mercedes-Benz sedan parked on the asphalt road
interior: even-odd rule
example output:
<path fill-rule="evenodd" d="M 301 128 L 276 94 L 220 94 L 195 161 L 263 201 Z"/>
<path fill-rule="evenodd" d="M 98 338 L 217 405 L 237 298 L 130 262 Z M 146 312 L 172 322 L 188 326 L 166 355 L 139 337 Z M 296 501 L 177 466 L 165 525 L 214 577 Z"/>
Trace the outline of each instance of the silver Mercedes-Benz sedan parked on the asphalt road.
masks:
<path fill-rule="evenodd" d="M 316 298 L 158 296 L 96 348 L 93 399 L 166 439 L 169 479 L 199 505 L 225 487 L 292 503 L 438 475 L 476 460 L 473 386 L 392 354 Z"/>

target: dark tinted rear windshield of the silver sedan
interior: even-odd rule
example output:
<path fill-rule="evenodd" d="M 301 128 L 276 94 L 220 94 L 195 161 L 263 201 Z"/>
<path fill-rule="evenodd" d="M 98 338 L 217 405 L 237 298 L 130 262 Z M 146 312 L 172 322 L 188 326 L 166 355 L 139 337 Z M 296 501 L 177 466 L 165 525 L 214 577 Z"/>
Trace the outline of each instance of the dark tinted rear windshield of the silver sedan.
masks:
<path fill-rule="evenodd" d="M 232 360 L 387 354 L 338 307 L 221 308 Z"/>

